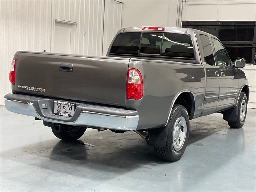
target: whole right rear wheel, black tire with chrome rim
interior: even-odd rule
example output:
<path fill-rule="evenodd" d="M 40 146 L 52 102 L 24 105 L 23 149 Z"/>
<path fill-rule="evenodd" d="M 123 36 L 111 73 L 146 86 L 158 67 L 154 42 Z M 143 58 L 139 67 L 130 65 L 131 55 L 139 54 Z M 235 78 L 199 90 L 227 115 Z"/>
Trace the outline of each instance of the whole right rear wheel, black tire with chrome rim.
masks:
<path fill-rule="evenodd" d="M 154 150 L 156 155 L 165 161 L 177 161 L 188 145 L 189 117 L 184 106 L 173 106 L 167 126 L 168 135 L 165 146 L 154 147 Z"/>

